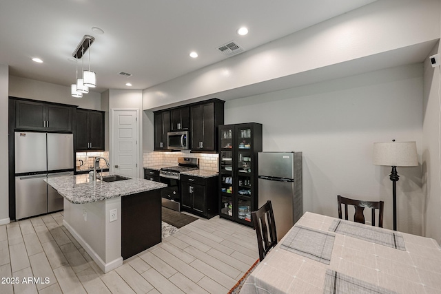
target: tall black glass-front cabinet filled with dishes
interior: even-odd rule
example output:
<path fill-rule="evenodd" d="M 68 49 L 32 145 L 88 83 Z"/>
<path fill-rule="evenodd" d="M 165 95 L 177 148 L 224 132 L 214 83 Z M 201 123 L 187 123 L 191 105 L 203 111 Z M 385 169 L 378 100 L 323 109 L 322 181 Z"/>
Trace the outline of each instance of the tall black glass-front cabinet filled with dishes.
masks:
<path fill-rule="evenodd" d="M 258 209 L 257 154 L 262 151 L 262 125 L 219 126 L 219 216 L 252 227 Z"/>

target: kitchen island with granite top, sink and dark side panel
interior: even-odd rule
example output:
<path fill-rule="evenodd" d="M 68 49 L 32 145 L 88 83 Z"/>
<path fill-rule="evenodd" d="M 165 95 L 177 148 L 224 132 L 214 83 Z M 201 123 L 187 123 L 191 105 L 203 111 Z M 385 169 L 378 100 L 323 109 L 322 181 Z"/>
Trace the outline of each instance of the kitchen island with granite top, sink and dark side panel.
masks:
<path fill-rule="evenodd" d="M 141 178 L 94 182 L 88 174 L 45 181 L 64 198 L 63 225 L 104 273 L 161 242 L 160 190 L 167 185 Z"/>

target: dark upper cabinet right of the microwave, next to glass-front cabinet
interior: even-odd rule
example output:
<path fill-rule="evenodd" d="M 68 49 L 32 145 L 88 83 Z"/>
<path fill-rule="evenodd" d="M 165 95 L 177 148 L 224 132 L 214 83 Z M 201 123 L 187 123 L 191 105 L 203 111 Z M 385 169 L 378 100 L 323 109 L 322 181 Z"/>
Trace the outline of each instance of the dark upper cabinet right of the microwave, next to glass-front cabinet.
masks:
<path fill-rule="evenodd" d="M 218 126 L 224 121 L 224 102 L 212 99 L 190 107 L 192 152 L 217 151 Z"/>

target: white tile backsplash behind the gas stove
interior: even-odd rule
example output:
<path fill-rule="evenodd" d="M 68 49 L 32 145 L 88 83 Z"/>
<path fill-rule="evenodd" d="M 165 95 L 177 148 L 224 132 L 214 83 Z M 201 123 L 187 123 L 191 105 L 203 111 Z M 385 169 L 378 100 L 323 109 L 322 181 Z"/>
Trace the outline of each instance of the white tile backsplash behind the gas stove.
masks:
<path fill-rule="evenodd" d="M 178 157 L 196 157 L 199 158 L 199 169 L 208 171 L 218 171 L 218 157 L 219 154 L 203 154 L 203 153 L 189 153 L 189 152 L 144 152 L 143 165 L 144 167 L 154 165 L 174 166 L 178 165 Z"/>

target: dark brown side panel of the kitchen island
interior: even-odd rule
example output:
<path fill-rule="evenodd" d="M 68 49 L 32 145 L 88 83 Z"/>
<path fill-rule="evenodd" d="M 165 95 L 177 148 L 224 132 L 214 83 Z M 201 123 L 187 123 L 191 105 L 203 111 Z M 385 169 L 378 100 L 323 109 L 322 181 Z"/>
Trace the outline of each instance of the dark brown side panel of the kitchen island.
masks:
<path fill-rule="evenodd" d="M 161 242 L 161 189 L 121 198 L 121 255 L 130 258 Z"/>

